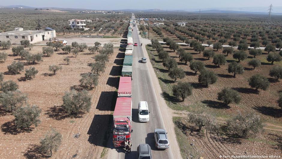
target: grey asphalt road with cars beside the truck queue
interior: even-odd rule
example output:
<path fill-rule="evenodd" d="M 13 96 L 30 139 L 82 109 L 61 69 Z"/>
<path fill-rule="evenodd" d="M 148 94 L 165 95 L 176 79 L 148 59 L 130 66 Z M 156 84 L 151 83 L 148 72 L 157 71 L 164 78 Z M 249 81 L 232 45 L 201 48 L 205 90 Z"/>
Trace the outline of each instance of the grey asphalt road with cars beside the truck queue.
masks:
<path fill-rule="evenodd" d="M 133 42 L 137 42 L 139 45 L 140 37 L 137 32 L 137 26 L 133 27 Z M 133 50 L 133 70 L 132 70 L 132 127 L 134 132 L 132 133 L 132 148 L 131 153 L 125 154 L 125 150 L 122 148 L 112 148 L 108 153 L 108 158 L 118 158 L 118 159 L 135 159 L 137 156 L 137 146 L 142 143 L 149 144 L 152 149 L 153 158 L 162 158 L 162 159 L 180 159 L 180 151 L 175 140 L 175 136 L 170 139 L 170 136 L 174 135 L 174 129 L 172 125 L 168 125 L 167 122 L 164 122 L 162 117 L 162 111 L 160 108 L 160 91 L 155 91 L 156 85 L 158 85 L 158 80 L 156 76 L 154 76 L 152 80 L 152 74 L 155 75 L 153 71 L 152 65 L 149 66 L 148 63 L 141 63 L 142 57 L 148 57 L 147 51 L 145 46 L 135 46 Z M 146 53 L 146 54 L 145 54 Z M 150 71 L 149 71 L 150 70 Z M 160 88 L 160 87 L 159 87 Z M 140 123 L 138 121 L 138 103 L 140 101 L 147 101 L 149 105 L 149 112 L 150 112 L 150 121 L 146 123 Z M 164 100 L 161 104 L 165 104 Z M 164 106 L 164 105 L 161 105 Z M 166 106 L 166 104 L 165 104 Z M 163 109 L 163 108 L 162 108 Z M 166 108 L 163 109 L 165 112 Z M 165 114 L 167 115 L 167 114 Z M 172 118 L 166 117 L 171 122 L 169 124 L 173 124 Z M 155 141 L 154 141 L 154 130 L 156 128 L 163 128 L 166 129 L 165 124 L 169 127 L 169 141 L 170 141 L 170 148 L 166 150 L 158 150 L 155 148 Z M 113 143 L 109 141 L 108 144 Z M 173 145 L 177 145 L 174 146 Z M 177 149 L 175 152 L 174 149 Z M 115 150 L 115 151 L 114 151 Z"/>

